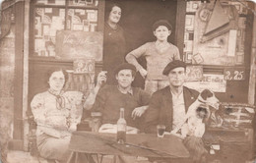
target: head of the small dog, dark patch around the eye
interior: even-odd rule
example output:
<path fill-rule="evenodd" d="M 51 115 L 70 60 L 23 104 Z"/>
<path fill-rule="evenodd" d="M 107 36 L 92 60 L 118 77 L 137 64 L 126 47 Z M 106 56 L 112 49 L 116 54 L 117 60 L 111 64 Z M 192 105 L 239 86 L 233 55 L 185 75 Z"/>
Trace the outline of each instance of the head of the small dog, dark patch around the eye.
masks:
<path fill-rule="evenodd" d="M 219 99 L 215 96 L 215 93 L 209 89 L 204 89 L 199 97 L 199 100 L 201 100 L 201 102 L 214 107 L 216 110 L 219 110 L 219 105 L 220 105 L 220 101 Z"/>

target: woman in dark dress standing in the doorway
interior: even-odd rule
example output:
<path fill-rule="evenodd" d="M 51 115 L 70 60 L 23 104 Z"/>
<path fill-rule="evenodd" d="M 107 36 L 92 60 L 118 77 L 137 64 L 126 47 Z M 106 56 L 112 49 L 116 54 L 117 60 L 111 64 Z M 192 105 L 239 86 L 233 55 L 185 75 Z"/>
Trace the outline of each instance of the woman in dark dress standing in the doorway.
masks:
<path fill-rule="evenodd" d="M 124 63 L 125 38 L 124 30 L 118 25 L 121 18 L 121 7 L 111 4 L 106 8 L 106 22 L 104 25 L 103 41 L 103 71 L 107 71 L 107 83 L 115 84 L 113 70 L 116 66 Z"/>

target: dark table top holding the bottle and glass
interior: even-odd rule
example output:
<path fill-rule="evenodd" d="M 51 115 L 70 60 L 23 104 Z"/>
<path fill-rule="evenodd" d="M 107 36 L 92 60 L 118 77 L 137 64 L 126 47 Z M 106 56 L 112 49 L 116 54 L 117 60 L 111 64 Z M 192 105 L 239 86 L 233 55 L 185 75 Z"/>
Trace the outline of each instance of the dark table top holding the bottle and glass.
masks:
<path fill-rule="evenodd" d="M 144 157 L 187 158 L 189 152 L 177 136 L 126 135 L 126 143 L 116 142 L 115 134 L 75 132 L 69 149 L 73 152 Z"/>

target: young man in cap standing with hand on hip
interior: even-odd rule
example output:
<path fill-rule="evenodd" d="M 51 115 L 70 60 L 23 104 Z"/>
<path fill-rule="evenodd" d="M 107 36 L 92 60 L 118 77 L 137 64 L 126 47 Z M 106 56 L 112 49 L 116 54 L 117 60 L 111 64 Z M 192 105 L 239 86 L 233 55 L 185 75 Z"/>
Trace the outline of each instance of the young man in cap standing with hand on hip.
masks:
<path fill-rule="evenodd" d="M 157 21 L 153 25 L 153 33 L 157 37 L 154 42 L 147 42 L 127 54 L 125 59 L 133 64 L 141 76 L 146 79 L 145 90 L 150 94 L 168 85 L 167 77 L 162 76 L 162 70 L 172 60 L 180 60 L 178 48 L 167 41 L 172 27 L 166 20 Z M 145 70 L 137 61 L 144 56 L 147 61 Z"/>

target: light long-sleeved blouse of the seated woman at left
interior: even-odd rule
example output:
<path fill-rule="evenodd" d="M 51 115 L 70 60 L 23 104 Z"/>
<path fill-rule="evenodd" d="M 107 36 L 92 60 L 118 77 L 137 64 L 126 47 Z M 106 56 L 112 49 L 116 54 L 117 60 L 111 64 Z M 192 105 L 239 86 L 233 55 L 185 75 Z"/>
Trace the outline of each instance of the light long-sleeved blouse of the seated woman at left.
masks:
<path fill-rule="evenodd" d="M 36 94 L 31 103 L 34 121 L 37 124 L 36 135 L 43 133 L 50 136 L 59 136 L 73 125 L 81 121 L 83 93 L 66 91 L 62 94 L 64 107 L 57 107 L 57 97 L 48 91 Z"/>

